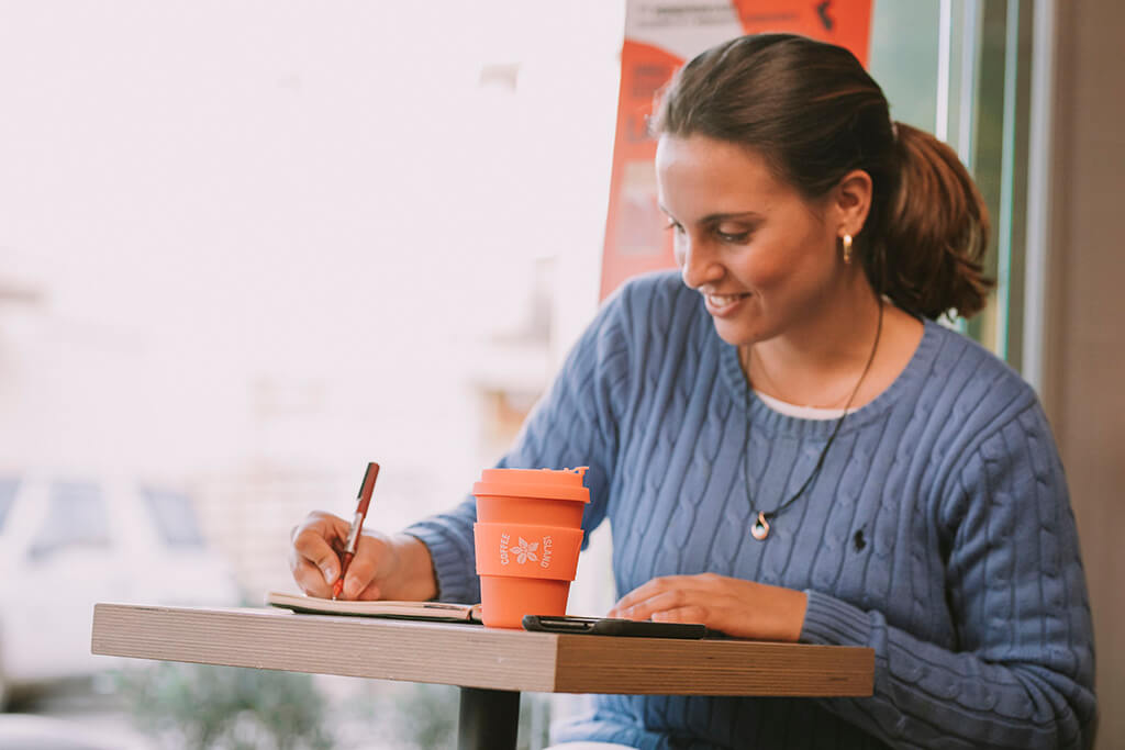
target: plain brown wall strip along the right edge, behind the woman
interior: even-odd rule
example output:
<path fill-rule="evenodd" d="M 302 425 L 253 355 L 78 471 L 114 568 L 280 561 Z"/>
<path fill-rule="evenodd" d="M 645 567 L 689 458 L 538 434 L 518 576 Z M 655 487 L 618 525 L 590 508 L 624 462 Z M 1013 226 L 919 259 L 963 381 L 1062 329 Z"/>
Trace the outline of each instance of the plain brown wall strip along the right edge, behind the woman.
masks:
<path fill-rule="evenodd" d="M 1094 611 L 1098 748 L 1125 747 L 1125 6 L 1059 0 L 1047 414 L 1059 439 Z"/>

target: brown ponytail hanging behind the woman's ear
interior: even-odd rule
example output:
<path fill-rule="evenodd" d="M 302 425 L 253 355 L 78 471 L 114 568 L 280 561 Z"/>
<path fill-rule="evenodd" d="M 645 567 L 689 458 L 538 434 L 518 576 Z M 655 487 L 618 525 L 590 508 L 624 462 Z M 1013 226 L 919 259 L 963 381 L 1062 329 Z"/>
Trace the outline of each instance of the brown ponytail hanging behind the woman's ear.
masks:
<path fill-rule="evenodd" d="M 993 282 L 983 275 L 988 207 L 947 145 L 898 123 L 898 184 L 864 259 L 876 290 L 929 318 L 979 313 Z"/>

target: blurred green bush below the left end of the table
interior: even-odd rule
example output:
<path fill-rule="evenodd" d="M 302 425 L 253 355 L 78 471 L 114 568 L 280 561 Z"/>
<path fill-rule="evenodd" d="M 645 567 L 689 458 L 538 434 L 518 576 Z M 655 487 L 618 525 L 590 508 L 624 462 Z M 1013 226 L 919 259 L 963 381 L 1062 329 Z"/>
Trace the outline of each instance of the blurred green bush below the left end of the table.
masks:
<path fill-rule="evenodd" d="M 119 676 L 137 724 L 179 748 L 325 750 L 324 698 L 312 676 L 161 662 Z"/>

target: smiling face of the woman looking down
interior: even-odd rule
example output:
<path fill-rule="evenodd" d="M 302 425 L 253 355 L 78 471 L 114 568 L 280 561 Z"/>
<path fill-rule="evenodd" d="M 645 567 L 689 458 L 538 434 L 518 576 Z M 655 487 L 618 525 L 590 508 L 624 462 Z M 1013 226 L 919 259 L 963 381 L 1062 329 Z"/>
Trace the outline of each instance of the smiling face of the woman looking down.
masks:
<path fill-rule="evenodd" d="M 766 341 L 830 314 L 842 265 L 830 211 L 724 141 L 662 136 L 656 170 L 684 283 L 723 341 Z"/>

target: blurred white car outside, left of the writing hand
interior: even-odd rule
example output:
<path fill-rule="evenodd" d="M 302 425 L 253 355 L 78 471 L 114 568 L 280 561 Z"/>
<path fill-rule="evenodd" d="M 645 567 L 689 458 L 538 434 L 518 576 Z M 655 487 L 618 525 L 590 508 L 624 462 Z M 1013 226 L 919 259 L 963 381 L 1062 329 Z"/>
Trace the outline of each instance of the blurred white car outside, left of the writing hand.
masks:
<path fill-rule="evenodd" d="M 0 473 L 0 707 L 116 666 L 90 653 L 96 602 L 233 606 L 188 495 L 116 479 Z"/>

